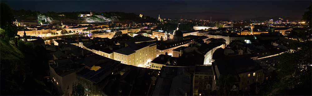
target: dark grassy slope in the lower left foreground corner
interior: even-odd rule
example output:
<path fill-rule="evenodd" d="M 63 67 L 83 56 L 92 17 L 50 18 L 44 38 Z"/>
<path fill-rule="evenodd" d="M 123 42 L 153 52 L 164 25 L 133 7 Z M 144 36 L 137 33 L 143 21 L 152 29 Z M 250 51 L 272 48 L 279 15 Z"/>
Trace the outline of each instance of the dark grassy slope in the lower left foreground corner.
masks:
<path fill-rule="evenodd" d="M 24 53 L 7 40 L 0 40 L 1 95 L 51 95 L 46 86 L 31 76 Z"/>

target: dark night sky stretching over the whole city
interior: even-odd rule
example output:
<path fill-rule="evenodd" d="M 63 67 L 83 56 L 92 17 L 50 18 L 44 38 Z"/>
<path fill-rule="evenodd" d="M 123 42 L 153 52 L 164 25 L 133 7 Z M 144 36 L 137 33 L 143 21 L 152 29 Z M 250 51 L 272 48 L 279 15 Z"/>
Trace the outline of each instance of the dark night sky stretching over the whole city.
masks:
<path fill-rule="evenodd" d="M 256 17 L 302 18 L 307 1 L 5 1 L 12 9 L 60 12 L 125 12 L 168 19 L 246 20 Z"/>

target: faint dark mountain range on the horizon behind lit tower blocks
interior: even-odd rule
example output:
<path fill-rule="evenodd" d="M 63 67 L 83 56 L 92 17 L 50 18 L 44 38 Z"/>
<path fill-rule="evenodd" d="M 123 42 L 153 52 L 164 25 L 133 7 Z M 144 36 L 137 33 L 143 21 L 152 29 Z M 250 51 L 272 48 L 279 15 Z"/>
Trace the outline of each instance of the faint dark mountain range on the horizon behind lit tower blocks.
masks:
<path fill-rule="evenodd" d="M 287 17 L 287 18 L 284 18 L 284 17 L 280 17 L 280 16 L 275 16 L 275 17 L 257 17 L 257 18 L 251 18 L 251 19 L 248 19 L 246 21 L 269 21 L 271 19 L 273 19 L 273 21 L 277 21 L 277 20 L 280 20 L 279 18 L 282 18 L 283 19 L 283 22 L 284 20 L 286 21 L 288 19 L 288 21 L 295 21 L 295 20 L 301 20 L 301 18 L 291 18 L 291 17 Z"/>

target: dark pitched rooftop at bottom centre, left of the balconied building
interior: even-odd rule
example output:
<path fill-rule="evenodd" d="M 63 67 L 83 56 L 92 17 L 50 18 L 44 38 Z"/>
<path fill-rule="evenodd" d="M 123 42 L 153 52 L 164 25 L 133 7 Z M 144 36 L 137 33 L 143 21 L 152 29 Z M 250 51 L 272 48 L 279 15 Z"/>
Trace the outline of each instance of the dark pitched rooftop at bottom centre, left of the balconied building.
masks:
<path fill-rule="evenodd" d="M 193 67 L 192 67 L 193 68 Z M 160 76 L 155 82 L 153 96 L 182 96 L 187 93 L 191 95 L 193 70 L 191 67 L 170 67 L 162 68 Z"/>

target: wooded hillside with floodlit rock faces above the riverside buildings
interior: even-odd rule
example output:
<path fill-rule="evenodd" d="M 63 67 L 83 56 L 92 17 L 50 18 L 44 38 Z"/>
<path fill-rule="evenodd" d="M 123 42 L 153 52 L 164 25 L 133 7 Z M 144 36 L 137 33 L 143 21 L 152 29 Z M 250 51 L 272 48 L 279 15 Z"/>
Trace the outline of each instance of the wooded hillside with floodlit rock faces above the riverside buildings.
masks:
<path fill-rule="evenodd" d="M 139 17 L 138 14 L 134 13 L 123 13 L 123 12 L 93 12 L 92 16 L 80 17 L 81 14 L 90 14 L 90 12 L 46 12 L 40 13 L 38 11 L 31 10 L 12 10 L 14 17 L 17 18 L 18 22 L 22 20 L 38 20 L 42 23 L 51 24 L 80 24 L 80 23 L 158 23 L 157 19 L 149 16 Z M 64 15 L 64 16 L 60 16 Z"/>

